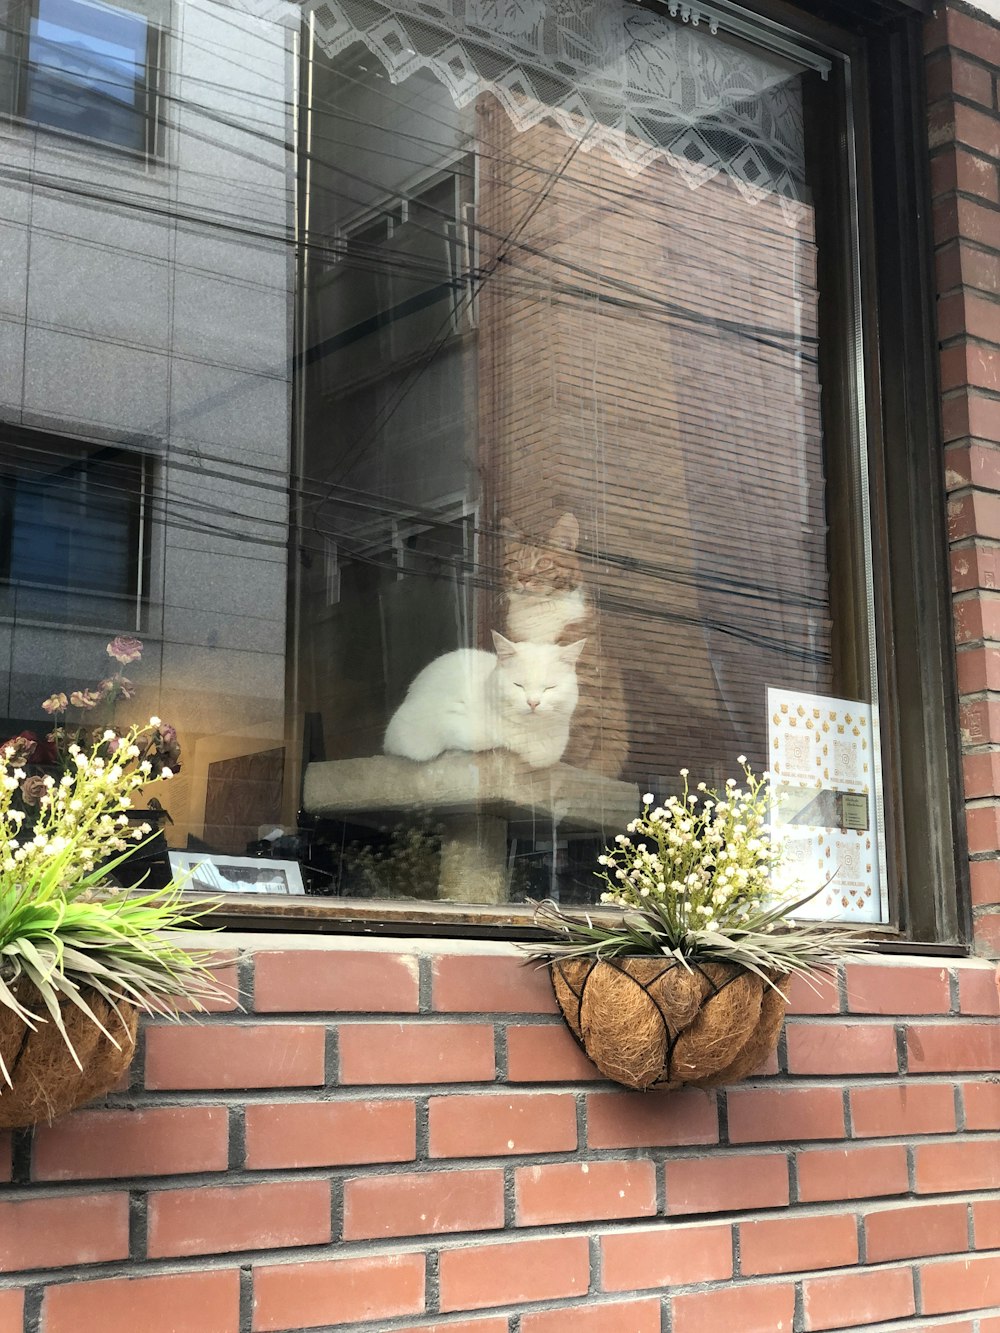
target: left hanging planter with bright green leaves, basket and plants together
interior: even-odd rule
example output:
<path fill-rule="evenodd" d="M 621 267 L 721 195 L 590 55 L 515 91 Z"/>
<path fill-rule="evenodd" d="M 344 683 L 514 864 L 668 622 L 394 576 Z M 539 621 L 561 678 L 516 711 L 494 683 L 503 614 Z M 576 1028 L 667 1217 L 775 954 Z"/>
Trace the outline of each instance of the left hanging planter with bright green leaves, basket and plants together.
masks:
<path fill-rule="evenodd" d="M 17 741 L 0 748 L 0 1128 L 53 1118 L 107 1092 L 132 1060 L 139 1012 L 175 1017 L 219 996 L 208 950 L 181 932 L 207 902 L 183 882 L 129 893 L 113 872 L 145 838 L 133 796 L 168 778 L 161 724 L 69 740 L 25 809 Z"/>

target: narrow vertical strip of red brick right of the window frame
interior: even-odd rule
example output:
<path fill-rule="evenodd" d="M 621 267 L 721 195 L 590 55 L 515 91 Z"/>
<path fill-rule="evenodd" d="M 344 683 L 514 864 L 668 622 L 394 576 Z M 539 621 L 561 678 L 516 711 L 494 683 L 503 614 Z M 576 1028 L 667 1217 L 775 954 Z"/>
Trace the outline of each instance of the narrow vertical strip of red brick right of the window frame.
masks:
<path fill-rule="evenodd" d="M 1000 953 L 1000 24 L 927 25 L 941 420 L 972 901 Z"/>

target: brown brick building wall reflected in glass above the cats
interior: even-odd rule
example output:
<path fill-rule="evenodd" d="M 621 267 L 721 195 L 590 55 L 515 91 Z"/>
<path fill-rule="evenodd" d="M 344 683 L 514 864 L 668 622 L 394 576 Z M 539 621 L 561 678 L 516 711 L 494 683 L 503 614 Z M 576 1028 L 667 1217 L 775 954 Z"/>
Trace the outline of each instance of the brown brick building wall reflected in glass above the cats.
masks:
<path fill-rule="evenodd" d="M 692 191 L 667 160 L 568 167 L 561 128 L 516 129 L 492 97 L 477 128 L 485 512 L 547 537 L 571 511 L 607 553 L 584 577 L 624 676 L 628 781 L 664 789 L 693 756 L 709 784 L 741 752 L 765 768 L 764 682 L 855 694 L 831 663 L 812 212 L 792 225 L 724 175 Z"/>

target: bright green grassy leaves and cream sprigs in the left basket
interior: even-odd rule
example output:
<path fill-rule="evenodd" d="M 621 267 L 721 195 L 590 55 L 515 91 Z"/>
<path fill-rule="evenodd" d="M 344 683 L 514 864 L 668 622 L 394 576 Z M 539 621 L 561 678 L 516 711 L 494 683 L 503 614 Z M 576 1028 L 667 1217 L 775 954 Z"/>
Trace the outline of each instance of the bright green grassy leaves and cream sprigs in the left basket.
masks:
<path fill-rule="evenodd" d="M 211 974 L 211 952 L 180 938 L 211 902 L 185 902 L 183 881 L 136 894 L 111 878 L 152 834 L 148 825 L 132 829 L 125 813 L 131 793 L 149 781 L 135 745 L 143 730 L 123 738 L 113 762 L 97 746 L 71 750 L 72 770 L 45 780 L 33 821 L 17 805 L 25 773 L 0 752 L 0 1006 L 32 1029 L 53 1022 L 77 1065 L 61 1005 L 76 1005 L 117 1045 L 88 992 L 119 1013 L 124 1004 L 164 1017 L 176 1017 L 179 1000 L 197 1010 L 227 993 Z M 23 1002 L 24 982 L 37 990 L 47 1018 Z M 0 1077 L 9 1085 L 3 1058 Z"/>

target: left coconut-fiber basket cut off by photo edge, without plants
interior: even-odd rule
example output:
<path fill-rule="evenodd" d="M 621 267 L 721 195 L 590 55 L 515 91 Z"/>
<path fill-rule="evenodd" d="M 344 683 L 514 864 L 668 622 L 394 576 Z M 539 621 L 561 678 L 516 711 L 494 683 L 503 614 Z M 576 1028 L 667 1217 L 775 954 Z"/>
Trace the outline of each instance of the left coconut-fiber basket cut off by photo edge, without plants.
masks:
<path fill-rule="evenodd" d="M 19 986 L 17 998 L 27 1009 L 45 1016 L 33 986 Z M 121 1005 L 119 1017 L 95 992 L 85 990 L 84 998 L 119 1045 L 108 1041 L 75 1004 L 64 1001 L 63 1022 L 83 1069 L 51 1018 L 32 1030 L 11 1009 L 0 1008 L 0 1056 L 13 1080 L 13 1086 L 8 1086 L 0 1074 L 0 1129 L 21 1129 L 64 1116 L 113 1088 L 132 1064 L 139 1010 Z"/>

